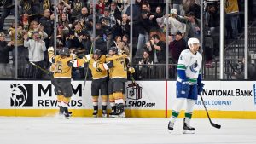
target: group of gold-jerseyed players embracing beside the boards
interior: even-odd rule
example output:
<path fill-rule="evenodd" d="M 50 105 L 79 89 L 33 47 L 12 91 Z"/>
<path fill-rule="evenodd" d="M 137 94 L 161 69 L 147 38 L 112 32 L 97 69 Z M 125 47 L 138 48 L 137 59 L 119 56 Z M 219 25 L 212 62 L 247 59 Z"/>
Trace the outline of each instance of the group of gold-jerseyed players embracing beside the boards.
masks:
<path fill-rule="evenodd" d="M 71 116 L 68 111 L 68 102 L 72 96 L 71 75 L 72 67 L 89 64 L 92 74 L 91 96 L 93 103 L 93 117 L 98 116 L 99 91 L 102 96 L 102 117 L 107 117 L 107 103 L 111 106 L 109 117 L 125 118 L 124 96 L 127 72 L 133 73 L 134 68 L 129 66 L 129 57 L 116 47 L 111 47 L 108 55 L 102 55 L 101 50 L 95 49 L 93 54 L 84 55 L 79 59 L 72 55 L 68 48 L 63 48 L 58 55 L 54 55 L 54 48 L 48 49 L 49 61 L 52 63 L 49 70 L 53 72 L 52 84 L 55 86 L 59 114 L 66 118 Z"/>

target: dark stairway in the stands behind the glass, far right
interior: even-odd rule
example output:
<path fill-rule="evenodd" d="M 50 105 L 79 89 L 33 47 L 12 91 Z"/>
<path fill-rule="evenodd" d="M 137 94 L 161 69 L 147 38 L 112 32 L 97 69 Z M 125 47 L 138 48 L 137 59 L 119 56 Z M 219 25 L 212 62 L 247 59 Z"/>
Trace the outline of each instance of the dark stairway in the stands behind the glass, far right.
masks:
<path fill-rule="evenodd" d="M 249 63 L 256 63 L 256 21 L 248 26 L 248 57 Z M 225 45 L 224 50 L 224 79 L 236 79 L 234 72 L 243 71 L 242 60 L 244 58 L 244 33 L 237 40 L 232 40 Z M 213 61 L 213 68 L 206 69 L 206 79 L 219 79 L 219 58 Z"/>

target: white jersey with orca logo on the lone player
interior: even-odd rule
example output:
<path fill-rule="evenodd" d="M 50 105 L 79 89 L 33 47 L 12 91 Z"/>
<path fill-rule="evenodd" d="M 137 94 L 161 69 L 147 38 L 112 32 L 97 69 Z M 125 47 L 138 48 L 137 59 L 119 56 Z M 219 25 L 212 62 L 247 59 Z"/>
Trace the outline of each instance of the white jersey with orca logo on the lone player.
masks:
<path fill-rule="evenodd" d="M 185 70 L 186 78 L 189 84 L 197 84 L 198 75 L 201 74 L 202 56 L 199 52 L 195 55 L 190 49 L 185 49 L 179 56 L 177 70 Z M 177 81 L 181 82 L 182 78 L 177 75 Z"/>

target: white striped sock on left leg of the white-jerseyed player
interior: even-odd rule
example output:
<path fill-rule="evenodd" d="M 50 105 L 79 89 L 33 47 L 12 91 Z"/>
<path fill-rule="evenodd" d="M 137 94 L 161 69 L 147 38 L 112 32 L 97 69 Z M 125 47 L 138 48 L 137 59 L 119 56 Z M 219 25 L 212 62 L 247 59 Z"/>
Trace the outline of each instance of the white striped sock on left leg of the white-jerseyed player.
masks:
<path fill-rule="evenodd" d="M 172 108 L 172 116 L 170 118 L 171 123 L 175 123 L 176 118 L 180 112 L 180 110 L 183 108 L 183 103 L 186 101 L 185 98 L 177 98 L 176 103 L 174 104 L 174 107 Z"/>

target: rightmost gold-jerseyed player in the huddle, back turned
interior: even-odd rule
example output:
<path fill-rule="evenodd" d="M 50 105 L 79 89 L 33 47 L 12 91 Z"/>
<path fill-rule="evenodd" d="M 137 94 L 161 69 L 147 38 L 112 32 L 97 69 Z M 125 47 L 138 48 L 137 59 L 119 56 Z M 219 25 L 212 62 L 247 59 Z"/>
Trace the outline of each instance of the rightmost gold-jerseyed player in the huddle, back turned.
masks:
<path fill-rule="evenodd" d="M 125 55 L 118 55 L 118 49 L 111 47 L 109 49 L 107 63 L 95 63 L 94 66 L 101 70 L 109 70 L 110 83 L 108 89 L 113 89 L 113 98 L 115 102 L 114 117 L 125 118 L 123 91 L 127 81 L 127 64 L 128 59 Z M 111 96 L 109 96 L 111 101 Z"/>

